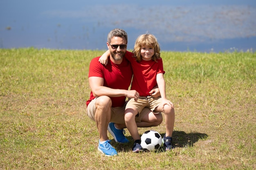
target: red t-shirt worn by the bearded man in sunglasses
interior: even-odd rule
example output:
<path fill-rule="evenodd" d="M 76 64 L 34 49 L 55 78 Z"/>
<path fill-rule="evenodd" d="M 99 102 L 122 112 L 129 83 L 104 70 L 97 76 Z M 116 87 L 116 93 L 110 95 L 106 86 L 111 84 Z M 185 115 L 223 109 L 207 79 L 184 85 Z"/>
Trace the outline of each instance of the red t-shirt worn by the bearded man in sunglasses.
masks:
<path fill-rule="evenodd" d="M 126 57 L 133 55 L 127 52 L 125 54 Z M 111 62 L 110 57 L 108 57 L 108 64 L 106 66 L 99 62 L 99 57 L 95 57 L 90 63 L 88 77 L 101 77 L 104 79 L 103 86 L 128 90 L 132 80 L 132 67 L 126 57 L 123 58 L 121 64 L 114 64 Z M 90 99 L 86 102 L 86 105 L 88 106 L 94 98 L 91 92 Z M 110 98 L 112 100 L 112 107 L 122 107 L 126 101 L 125 96 Z"/>

